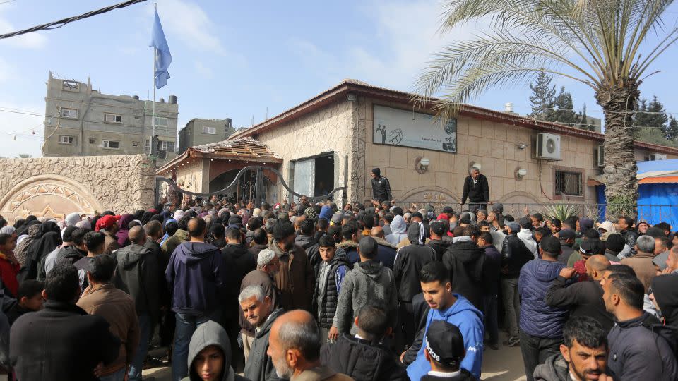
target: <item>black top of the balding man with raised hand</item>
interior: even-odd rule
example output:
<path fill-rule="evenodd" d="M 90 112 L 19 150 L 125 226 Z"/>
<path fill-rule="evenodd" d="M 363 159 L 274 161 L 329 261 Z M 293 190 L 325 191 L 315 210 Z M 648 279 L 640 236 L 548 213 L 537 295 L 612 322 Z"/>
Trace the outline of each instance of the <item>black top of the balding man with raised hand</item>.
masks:
<path fill-rule="evenodd" d="M 597 281 L 576 282 L 568 286 L 564 277 L 557 277 L 547 289 L 544 301 L 550 307 L 569 307 L 570 317 L 593 317 L 605 332 L 614 326 L 614 316 L 605 309 L 602 287 Z"/>

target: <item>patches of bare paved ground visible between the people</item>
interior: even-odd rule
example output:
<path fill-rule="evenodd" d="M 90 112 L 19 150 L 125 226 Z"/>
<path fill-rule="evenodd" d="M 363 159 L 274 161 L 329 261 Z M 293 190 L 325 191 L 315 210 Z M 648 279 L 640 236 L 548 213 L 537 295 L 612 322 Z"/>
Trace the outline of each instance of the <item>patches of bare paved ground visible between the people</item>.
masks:
<path fill-rule="evenodd" d="M 504 341 L 504 333 L 501 332 Z M 155 381 L 170 381 L 172 372 L 169 368 L 153 368 L 143 371 L 144 379 L 153 376 Z M 487 348 L 482 360 L 482 380 L 487 381 L 518 381 L 525 380 L 523 357 L 521 348 L 514 346 L 499 346 L 499 351 Z"/>

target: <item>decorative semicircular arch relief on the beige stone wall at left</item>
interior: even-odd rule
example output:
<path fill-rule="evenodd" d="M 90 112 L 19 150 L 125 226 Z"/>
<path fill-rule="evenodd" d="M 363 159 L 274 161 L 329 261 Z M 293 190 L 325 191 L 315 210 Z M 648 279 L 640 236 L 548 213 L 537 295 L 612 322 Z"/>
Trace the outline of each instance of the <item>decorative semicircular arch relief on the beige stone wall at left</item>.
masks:
<path fill-rule="evenodd" d="M 29 214 L 61 219 L 73 212 L 102 211 L 99 200 L 86 189 L 78 181 L 57 174 L 32 176 L 0 198 L 0 212 L 15 219 Z"/>

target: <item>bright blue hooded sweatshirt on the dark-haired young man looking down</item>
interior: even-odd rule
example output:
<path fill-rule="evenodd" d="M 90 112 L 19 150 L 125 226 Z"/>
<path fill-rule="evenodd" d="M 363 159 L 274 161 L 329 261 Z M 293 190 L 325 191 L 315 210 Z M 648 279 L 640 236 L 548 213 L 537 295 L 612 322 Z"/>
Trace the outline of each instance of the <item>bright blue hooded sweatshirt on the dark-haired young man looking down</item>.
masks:
<path fill-rule="evenodd" d="M 424 357 L 426 348 L 425 338 L 431 322 L 445 320 L 459 327 L 464 338 L 466 356 L 461 361 L 461 368 L 468 370 L 474 377 L 480 380 L 480 365 L 482 364 L 483 334 L 482 313 L 475 308 L 466 298 L 454 294 L 457 301 L 445 310 L 429 310 L 424 332 L 424 343 L 417 352 L 417 359 L 408 366 L 410 380 L 420 380 L 431 370 L 431 364 Z"/>

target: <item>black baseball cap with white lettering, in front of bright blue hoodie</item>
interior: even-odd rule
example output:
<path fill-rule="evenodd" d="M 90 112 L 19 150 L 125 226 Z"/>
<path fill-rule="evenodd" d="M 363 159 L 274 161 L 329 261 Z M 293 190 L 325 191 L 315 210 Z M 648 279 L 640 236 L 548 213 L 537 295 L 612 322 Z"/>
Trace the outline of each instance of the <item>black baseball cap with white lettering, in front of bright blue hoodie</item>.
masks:
<path fill-rule="evenodd" d="M 426 351 L 436 363 L 458 368 L 465 354 L 459 328 L 446 320 L 434 320 L 426 334 Z"/>

